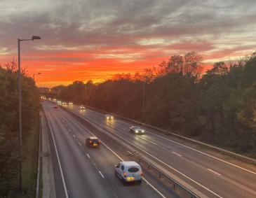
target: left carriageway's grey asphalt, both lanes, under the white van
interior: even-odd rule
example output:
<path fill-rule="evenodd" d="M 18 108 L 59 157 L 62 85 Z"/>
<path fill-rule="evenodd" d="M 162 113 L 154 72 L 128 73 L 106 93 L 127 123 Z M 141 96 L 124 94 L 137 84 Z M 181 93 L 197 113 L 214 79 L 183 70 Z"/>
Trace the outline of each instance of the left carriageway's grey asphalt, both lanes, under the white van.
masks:
<path fill-rule="evenodd" d="M 160 197 L 147 183 L 123 185 L 114 176 L 114 164 L 120 160 L 105 146 L 89 149 L 85 146 L 86 129 L 77 125 L 65 111 L 43 104 L 53 127 L 63 164 L 69 197 Z"/>

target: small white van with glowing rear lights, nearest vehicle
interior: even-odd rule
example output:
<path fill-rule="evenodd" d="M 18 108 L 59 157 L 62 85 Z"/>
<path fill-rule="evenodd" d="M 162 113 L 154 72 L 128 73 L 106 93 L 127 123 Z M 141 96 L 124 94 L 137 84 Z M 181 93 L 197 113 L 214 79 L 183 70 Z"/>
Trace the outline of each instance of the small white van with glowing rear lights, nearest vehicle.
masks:
<path fill-rule="evenodd" d="M 115 174 L 123 183 L 142 182 L 142 168 L 134 161 L 119 162 L 115 166 Z"/>

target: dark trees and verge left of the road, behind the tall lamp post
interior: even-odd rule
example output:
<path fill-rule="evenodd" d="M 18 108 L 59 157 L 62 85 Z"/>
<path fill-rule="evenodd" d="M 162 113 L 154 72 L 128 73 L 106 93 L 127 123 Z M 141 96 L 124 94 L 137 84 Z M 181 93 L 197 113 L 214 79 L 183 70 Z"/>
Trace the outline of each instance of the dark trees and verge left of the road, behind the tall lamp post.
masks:
<path fill-rule="evenodd" d="M 19 191 L 18 83 L 15 61 L 0 65 L 0 197 L 34 197 L 39 146 L 39 93 L 22 71 L 22 190 Z"/>

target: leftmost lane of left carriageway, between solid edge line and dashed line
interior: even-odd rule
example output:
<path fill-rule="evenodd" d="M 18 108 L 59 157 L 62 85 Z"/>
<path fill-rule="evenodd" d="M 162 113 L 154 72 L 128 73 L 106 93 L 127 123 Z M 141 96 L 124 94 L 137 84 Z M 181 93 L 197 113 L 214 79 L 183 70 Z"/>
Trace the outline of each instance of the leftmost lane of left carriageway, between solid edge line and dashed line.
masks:
<path fill-rule="evenodd" d="M 46 109 L 46 108 L 45 108 Z M 53 129 L 69 197 L 115 197 L 58 117 L 46 110 Z"/>

